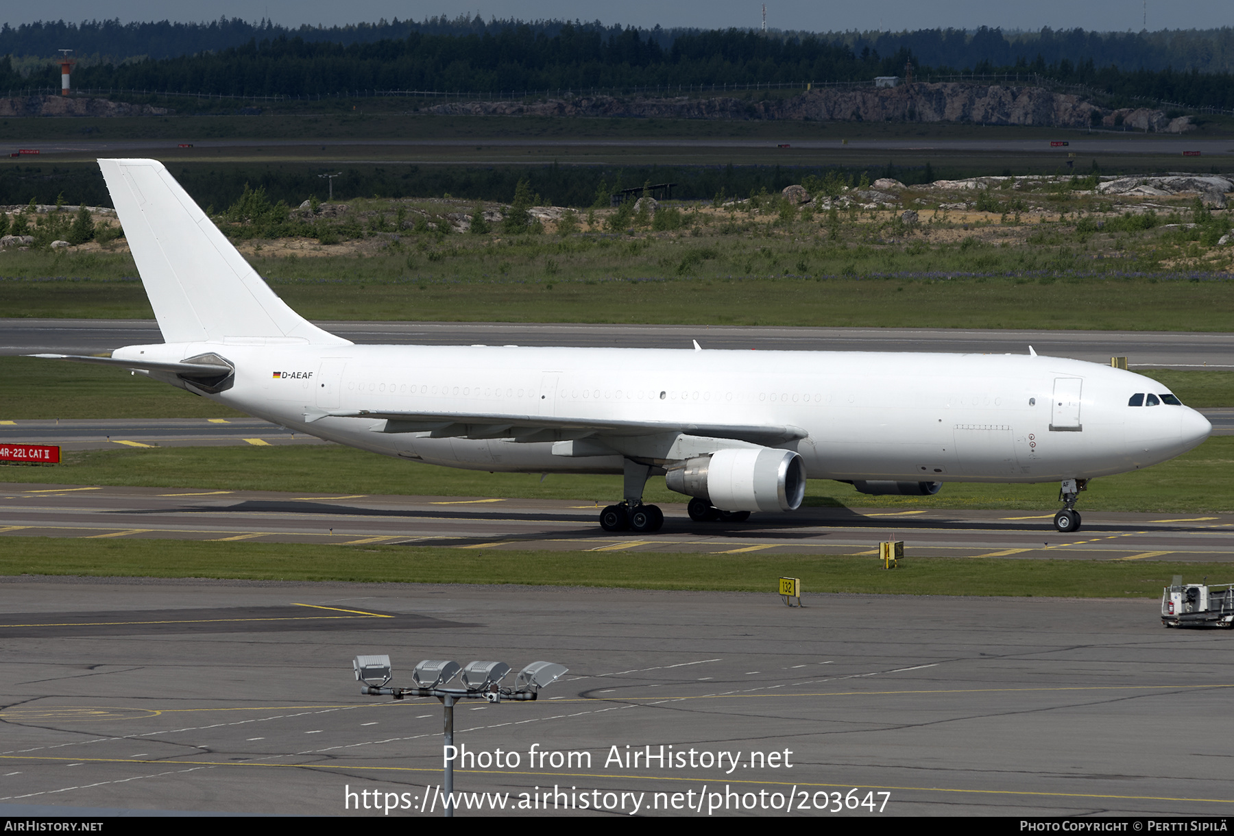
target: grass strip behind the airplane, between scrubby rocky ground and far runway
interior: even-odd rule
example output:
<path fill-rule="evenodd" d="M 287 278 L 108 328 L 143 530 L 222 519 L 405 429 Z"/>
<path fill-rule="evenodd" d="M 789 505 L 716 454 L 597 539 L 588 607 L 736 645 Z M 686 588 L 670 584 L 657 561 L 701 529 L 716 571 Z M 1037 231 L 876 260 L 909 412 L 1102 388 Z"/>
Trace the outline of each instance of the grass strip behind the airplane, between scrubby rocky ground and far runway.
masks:
<path fill-rule="evenodd" d="M 317 273 L 332 266 L 331 259 L 311 261 L 295 269 Z M 732 279 L 729 274 L 682 279 L 665 277 L 664 270 L 639 276 L 629 266 L 608 271 L 621 276 L 584 280 L 573 277 L 585 271 L 574 270 L 568 260 L 559 264 L 555 275 L 540 268 L 538 276 L 529 273 L 522 281 L 452 280 L 448 273 L 427 270 L 415 280 L 365 279 L 363 273 L 357 276 L 363 270 L 379 270 L 375 261 L 349 258 L 336 263 L 336 279 L 331 281 L 274 279 L 270 284 L 310 319 L 1180 332 L 1234 328 L 1234 295 L 1225 282 L 1217 281 L 814 280 L 739 274 Z M 494 274 L 499 266 L 492 266 Z M 1059 305 L 1060 297 L 1067 300 L 1065 306 Z M 153 318 L 141 285 L 122 281 L 0 281 L 0 308 L 15 317 Z M 1134 345 L 1127 353 L 1134 365 Z"/>

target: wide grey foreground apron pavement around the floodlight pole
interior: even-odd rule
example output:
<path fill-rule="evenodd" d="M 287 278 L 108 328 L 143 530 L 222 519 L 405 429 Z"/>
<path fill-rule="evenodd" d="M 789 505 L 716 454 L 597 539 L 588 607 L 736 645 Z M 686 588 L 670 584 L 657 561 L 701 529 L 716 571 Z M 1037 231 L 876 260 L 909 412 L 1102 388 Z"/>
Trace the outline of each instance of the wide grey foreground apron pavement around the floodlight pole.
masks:
<path fill-rule="evenodd" d="M 439 816 L 441 704 L 360 697 L 355 654 L 389 654 L 395 684 L 422 658 L 569 668 L 539 700 L 455 709 L 455 745 L 489 758 L 459 764 L 455 790 L 508 793 L 499 815 L 595 815 L 584 795 L 624 816 L 636 799 L 695 816 L 790 798 L 859 818 L 1234 804 L 1230 635 L 1162 629 L 1151 599 L 790 609 L 770 593 L 30 576 L 0 578 L 0 815 L 389 819 L 363 809 L 376 792 L 406 793 L 391 815 Z M 682 766 L 626 760 L 661 746 Z M 494 815 L 492 799 L 458 815 Z"/>

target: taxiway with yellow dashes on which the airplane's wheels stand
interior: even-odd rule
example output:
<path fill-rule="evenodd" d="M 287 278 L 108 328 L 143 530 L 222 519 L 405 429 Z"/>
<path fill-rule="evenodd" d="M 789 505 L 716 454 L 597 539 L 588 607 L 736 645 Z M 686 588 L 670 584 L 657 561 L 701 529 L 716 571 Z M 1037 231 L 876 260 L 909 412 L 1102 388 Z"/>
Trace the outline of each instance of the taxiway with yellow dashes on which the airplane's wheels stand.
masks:
<path fill-rule="evenodd" d="M 870 556 L 895 539 L 914 559 L 1220 563 L 1234 551 L 1234 514 L 1083 510 L 1082 528 L 1060 534 L 1053 510 L 801 508 L 726 524 L 660 507 L 660 531 L 613 534 L 598 504 L 578 501 L 0 485 L 0 536 Z"/>

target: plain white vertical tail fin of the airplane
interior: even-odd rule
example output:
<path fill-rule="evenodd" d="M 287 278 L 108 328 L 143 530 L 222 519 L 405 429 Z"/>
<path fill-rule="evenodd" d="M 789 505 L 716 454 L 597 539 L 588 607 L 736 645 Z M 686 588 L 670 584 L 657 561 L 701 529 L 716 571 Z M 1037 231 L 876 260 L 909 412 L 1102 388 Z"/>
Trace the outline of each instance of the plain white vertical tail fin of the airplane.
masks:
<path fill-rule="evenodd" d="M 168 343 L 349 344 L 288 307 L 162 163 L 99 166 Z"/>

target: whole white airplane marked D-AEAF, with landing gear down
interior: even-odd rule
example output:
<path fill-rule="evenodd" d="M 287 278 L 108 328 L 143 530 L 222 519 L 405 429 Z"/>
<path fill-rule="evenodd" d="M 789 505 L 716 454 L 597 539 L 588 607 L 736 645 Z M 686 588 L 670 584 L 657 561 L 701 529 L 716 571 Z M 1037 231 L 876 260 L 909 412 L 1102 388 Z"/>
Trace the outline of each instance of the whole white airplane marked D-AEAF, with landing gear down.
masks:
<path fill-rule="evenodd" d="M 796 509 L 806 477 L 870 494 L 1061 483 L 1148 467 L 1212 425 L 1166 387 L 1079 360 L 990 354 L 355 345 L 283 302 L 167 169 L 101 159 L 163 338 L 111 358 L 251 416 L 471 470 L 623 473 L 606 530 L 654 531 L 649 476 L 695 520 Z M 415 475 L 410 475 L 410 482 Z"/>

